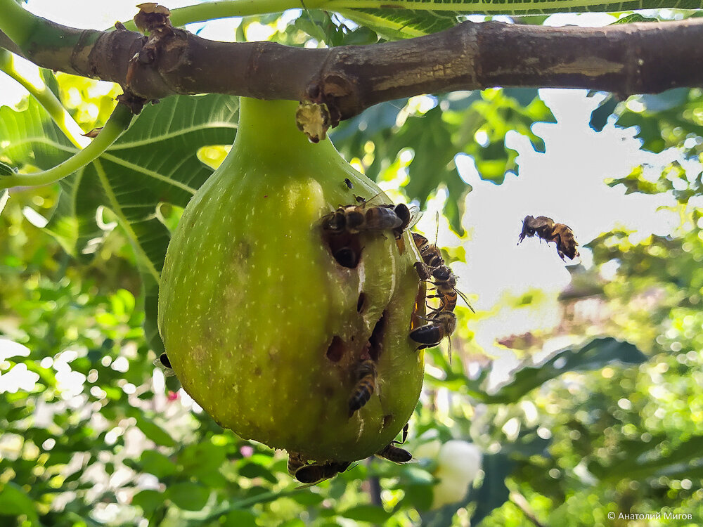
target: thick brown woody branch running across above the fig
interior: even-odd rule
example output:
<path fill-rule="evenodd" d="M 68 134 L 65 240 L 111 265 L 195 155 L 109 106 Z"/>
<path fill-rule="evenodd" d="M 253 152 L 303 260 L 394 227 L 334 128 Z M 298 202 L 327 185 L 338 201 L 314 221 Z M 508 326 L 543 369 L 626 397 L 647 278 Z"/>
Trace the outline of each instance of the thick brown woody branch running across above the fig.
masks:
<path fill-rule="evenodd" d="M 49 36 L 61 39 L 22 46 L 43 67 L 117 82 L 146 99 L 178 93 L 309 99 L 327 103 L 341 119 L 385 100 L 490 86 L 621 96 L 703 86 L 703 70 L 695 67 L 703 63 L 700 18 L 597 28 L 464 22 L 426 37 L 330 49 L 218 42 L 175 28 L 149 39 L 122 25 L 98 32 L 48 23 Z"/>

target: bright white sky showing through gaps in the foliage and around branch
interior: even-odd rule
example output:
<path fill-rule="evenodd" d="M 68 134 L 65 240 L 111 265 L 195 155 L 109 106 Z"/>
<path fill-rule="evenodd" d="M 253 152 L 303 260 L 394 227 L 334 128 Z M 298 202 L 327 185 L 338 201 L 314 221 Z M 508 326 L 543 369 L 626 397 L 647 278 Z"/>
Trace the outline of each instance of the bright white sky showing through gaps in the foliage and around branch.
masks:
<path fill-rule="evenodd" d="M 136 8 L 134 0 L 30 0 L 28 8 L 41 16 L 74 27 L 105 28 L 117 20 L 129 20 Z M 165 1 L 169 8 L 191 4 L 191 1 Z M 604 25 L 610 15 L 553 15 L 548 24 Z M 219 20 L 208 25 L 194 25 L 203 37 L 231 40 L 238 20 Z M 0 77 L 0 103 L 12 103 L 23 90 L 4 76 Z M 460 278 L 460 289 L 471 297 L 477 295 L 474 307 L 491 309 L 506 292 L 520 295 L 532 288 L 546 289 L 555 298 L 569 282 L 569 273 L 557 256 L 553 245 L 531 238 L 519 247 L 517 236 L 522 219 L 550 216 L 570 226 L 581 245 L 602 231 L 626 226 L 640 231 L 664 235 L 678 223 L 678 216 L 657 212 L 662 197 L 624 195 L 623 188 L 608 188 L 605 178 L 623 177 L 642 162 L 658 167 L 668 160 L 638 150 L 632 129 L 616 129 L 612 124 L 596 134 L 588 127 L 591 111 L 600 96 L 587 98 L 586 91 L 542 90 L 541 96 L 557 117 L 557 124 L 536 124 L 534 132 L 546 143 L 546 153 L 532 150 L 527 138 L 513 134 L 509 144 L 520 152 L 520 176 L 508 176 L 495 186 L 481 181 L 472 162 L 458 158 L 462 177 L 473 187 L 467 197 L 465 228 L 470 240 L 465 242 L 467 263 L 457 263 L 454 271 Z M 419 227 L 434 233 L 434 210 L 425 213 Z M 456 238 L 441 228 L 440 245 L 456 245 Z M 590 254 L 582 250 L 582 261 L 588 266 Z M 496 336 L 520 334 L 536 327 L 557 323 L 555 304 L 541 312 L 512 311 L 489 318 L 480 325 L 477 339 L 484 349 L 494 349 Z"/>

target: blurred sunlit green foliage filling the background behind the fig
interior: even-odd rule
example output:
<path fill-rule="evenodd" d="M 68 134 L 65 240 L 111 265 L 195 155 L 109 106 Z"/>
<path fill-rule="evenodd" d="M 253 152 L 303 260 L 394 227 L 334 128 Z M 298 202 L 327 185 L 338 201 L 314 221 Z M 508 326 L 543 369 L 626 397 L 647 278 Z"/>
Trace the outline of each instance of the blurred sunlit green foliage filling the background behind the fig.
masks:
<path fill-rule="evenodd" d="M 276 18 L 249 22 L 273 24 Z M 413 22 L 420 27 L 427 20 Z M 349 30 L 316 13 L 301 15 L 276 39 L 303 44 L 306 34 L 330 45 L 377 38 L 368 27 Z M 51 72 L 44 78 L 84 129 L 105 121 L 114 89 Z M 141 216 L 120 215 L 115 202 L 105 201 L 104 183 L 95 180 L 13 189 L 1 212 L 0 525 L 659 524 L 610 521 L 610 512 L 691 514 L 691 521 L 676 525 L 699 525 L 701 90 L 624 103 L 607 99 L 592 121 L 596 128 L 609 120 L 637 126 L 643 148 L 678 155 L 661 169 L 636 167 L 610 184 L 628 193 L 671 193 L 680 228 L 638 241 L 617 230 L 589 243 L 593 266 L 574 268 L 573 287 L 562 295 L 562 324 L 553 333 L 501 342 L 521 361 L 499 386 L 486 384 L 491 360 L 460 328 L 465 338 L 453 339 L 458 353 L 451 365 L 443 350 L 427 353 L 431 370 L 406 443 L 418 453 L 416 462 L 364 460 L 305 489 L 288 476 L 284 453 L 219 428 L 152 363 L 159 349 L 149 325 L 155 290 L 143 287 L 144 256 L 160 268 L 168 233 L 188 198 L 163 193 L 159 182 L 187 161 L 191 173 L 172 181 L 181 190 L 193 181 L 197 188 L 211 170 L 197 161 L 198 148 L 231 142 L 236 108 L 215 99 L 173 98 L 147 108 L 122 141 L 153 142 L 141 150 L 122 148 L 122 168 L 105 163 L 108 180 L 118 184 L 127 163 L 153 169 L 152 178 L 134 171 L 134 188 L 118 203 L 142 207 Z M 427 100 L 431 104 L 423 106 Z M 148 132 L 164 109 L 186 106 L 190 121 L 162 119 L 156 134 Z M 8 143 L 0 141 L 0 161 L 31 169 L 63 159 L 68 143 L 40 106 L 28 101 L 18 110 L 1 110 L 0 139 Z M 491 89 L 377 105 L 333 138 L 371 177 L 404 173 L 400 184 L 408 198 L 425 202 L 446 188 L 446 214 L 460 229 L 470 188 L 458 177 L 454 156 L 470 155 L 482 177 L 499 184 L 517 170 L 506 135 L 515 131 L 543 150 L 531 125 L 552 119 L 534 90 Z M 184 130 L 195 122 L 205 131 L 194 138 Z M 33 143 L 10 124 L 32 131 Z M 181 143 L 173 142 L 174 133 Z M 409 161 L 401 159 L 404 152 L 411 153 Z M 96 215 L 98 205 L 104 209 Z M 27 208 L 49 226 L 34 226 Z M 131 227 L 141 221 L 155 230 L 142 230 L 140 238 Z M 160 241 L 150 245 L 148 234 L 155 232 Z M 522 303 L 529 307 L 539 297 Z M 572 344 L 541 353 L 555 337 Z M 463 500 L 433 510 L 436 451 L 453 438 L 479 446 L 482 471 Z"/>

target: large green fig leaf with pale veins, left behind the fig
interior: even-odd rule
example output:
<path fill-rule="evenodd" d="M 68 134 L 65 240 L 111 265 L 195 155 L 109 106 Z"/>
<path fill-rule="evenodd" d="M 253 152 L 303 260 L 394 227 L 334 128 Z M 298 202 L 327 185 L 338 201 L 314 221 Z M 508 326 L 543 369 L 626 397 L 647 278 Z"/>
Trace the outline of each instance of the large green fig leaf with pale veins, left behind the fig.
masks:
<path fill-rule="evenodd" d="M 62 192 L 46 230 L 66 252 L 86 259 L 89 240 L 103 236 L 96 209 L 115 213 L 144 277 L 145 329 L 157 353 L 163 346 L 155 323 L 156 285 L 170 240 L 157 208 L 162 202 L 186 206 L 212 174 L 198 160 L 198 149 L 231 144 L 237 111 L 238 99 L 231 96 L 169 97 L 144 108 L 98 160 L 60 181 Z M 49 169 L 76 151 L 31 98 L 22 112 L 0 108 L 0 137 L 6 141 L 0 156 L 18 167 Z"/>

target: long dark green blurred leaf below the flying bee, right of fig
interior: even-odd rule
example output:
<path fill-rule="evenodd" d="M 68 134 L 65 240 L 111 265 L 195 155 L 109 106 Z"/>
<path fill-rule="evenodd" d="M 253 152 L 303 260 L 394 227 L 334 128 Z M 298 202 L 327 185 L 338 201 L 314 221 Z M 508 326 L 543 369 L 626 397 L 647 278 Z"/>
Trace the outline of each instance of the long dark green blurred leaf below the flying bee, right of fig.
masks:
<path fill-rule="evenodd" d="M 486 403 L 515 403 L 533 389 L 565 372 L 598 370 L 614 362 L 626 365 L 641 364 L 645 360 L 647 356 L 634 344 L 612 337 L 593 339 L 581 348 L 569 347 L 557 352 L 543 365 L 523 367 L 515 373 L 511 382 L 501 386 L 493 395 L 482 396 L 478 391 L 472 394 Z M 470 389 L 477 390 L 477 384 L 480 384 L 482 379 L 483 377 L 480 377 L 471 382 Z"/>

